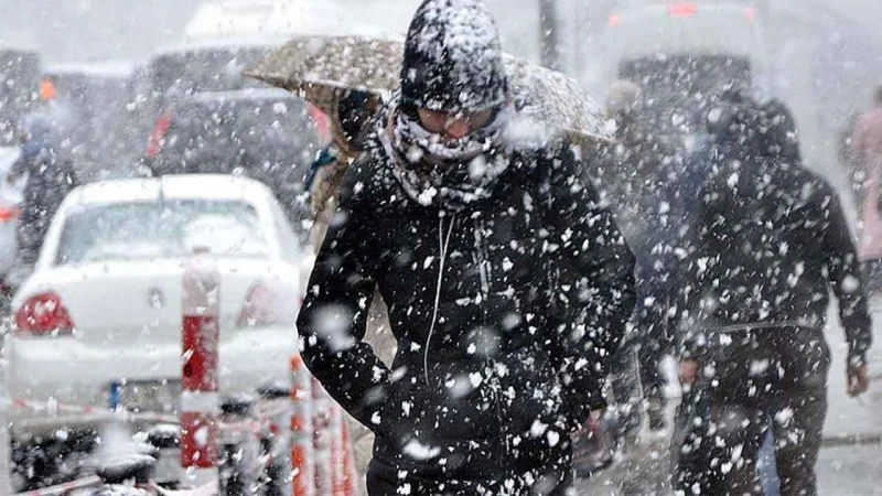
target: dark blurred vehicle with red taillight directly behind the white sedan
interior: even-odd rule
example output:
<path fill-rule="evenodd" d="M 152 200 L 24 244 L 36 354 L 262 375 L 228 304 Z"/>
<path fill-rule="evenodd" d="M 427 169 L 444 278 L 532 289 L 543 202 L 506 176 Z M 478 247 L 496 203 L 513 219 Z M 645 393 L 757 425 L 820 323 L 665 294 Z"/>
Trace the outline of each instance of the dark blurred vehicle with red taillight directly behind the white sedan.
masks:
<path fill-rule="evenodd" d="M 157 120 L 147 150 L 154 174 L 223 173 L 256 179 L 275 193 L 299 236 L 303 179 L 319 147 L 305 101 L 280 89 L 198 93 Z"/>

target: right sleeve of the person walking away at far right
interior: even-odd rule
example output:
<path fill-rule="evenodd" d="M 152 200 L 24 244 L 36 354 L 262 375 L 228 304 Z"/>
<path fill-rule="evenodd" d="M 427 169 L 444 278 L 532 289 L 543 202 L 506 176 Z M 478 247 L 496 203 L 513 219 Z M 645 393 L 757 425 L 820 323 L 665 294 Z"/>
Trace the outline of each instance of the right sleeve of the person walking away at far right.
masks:
<path fill-rule="evenodd" d="M 858 254 L 839 198 L 832 191 L 828 192 L 825 206 L 828 224 L 824 251 L 828 257 L 830 288 L 839 300 L 839 321 L 846 332 L 849 363 L 865 365 L 872 327 Z"/>

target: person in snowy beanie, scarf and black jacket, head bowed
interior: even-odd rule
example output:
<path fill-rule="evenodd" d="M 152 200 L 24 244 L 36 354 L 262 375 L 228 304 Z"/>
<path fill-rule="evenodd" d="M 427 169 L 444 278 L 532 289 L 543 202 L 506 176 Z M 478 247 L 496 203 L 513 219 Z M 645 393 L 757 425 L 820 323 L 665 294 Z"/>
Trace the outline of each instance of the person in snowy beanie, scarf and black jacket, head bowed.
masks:
<path fill-rule="evenodd" d="M 563 495 L 605 405 L 634 259 L 569 147 L 506 139 L 502 56 L 481 1 L 419 7 L 298 317 L 306 366 L 376 434 L 372 496 Z M 375 287 L 391 368 L 363 342 Z"/>

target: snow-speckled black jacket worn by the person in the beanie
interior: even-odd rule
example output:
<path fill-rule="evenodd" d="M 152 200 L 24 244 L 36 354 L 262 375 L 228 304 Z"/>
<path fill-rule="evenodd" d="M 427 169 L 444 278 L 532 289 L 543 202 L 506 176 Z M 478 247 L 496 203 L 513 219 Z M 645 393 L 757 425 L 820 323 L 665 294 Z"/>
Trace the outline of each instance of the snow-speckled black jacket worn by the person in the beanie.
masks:
<path fill-rule="evenodd" d="M 612 216 L 568 148 L 514 152 L 493 197 L 460 212 L 412 201 L 389 160 L 375 137 L 347 172 L 298 320 L 308 367 L 391 476 L 566 472 L 634 304 Z M 391 369 L 362 341 L 375 285 Z"/>

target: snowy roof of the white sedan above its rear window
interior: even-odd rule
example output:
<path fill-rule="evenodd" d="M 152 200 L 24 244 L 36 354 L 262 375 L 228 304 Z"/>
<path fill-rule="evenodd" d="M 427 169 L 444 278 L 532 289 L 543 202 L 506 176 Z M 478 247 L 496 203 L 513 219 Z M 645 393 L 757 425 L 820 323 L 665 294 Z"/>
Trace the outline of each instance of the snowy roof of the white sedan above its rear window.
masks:
<path fill-rule="evenodd" d="M 109 180 L 74 190 L 68 205 L 95 205 L 122 202 L 149 202 L 164 198 L 246 200 L 270 195 L 261 183 L 224 174 L 166 175 L 159 179 Z"/>

